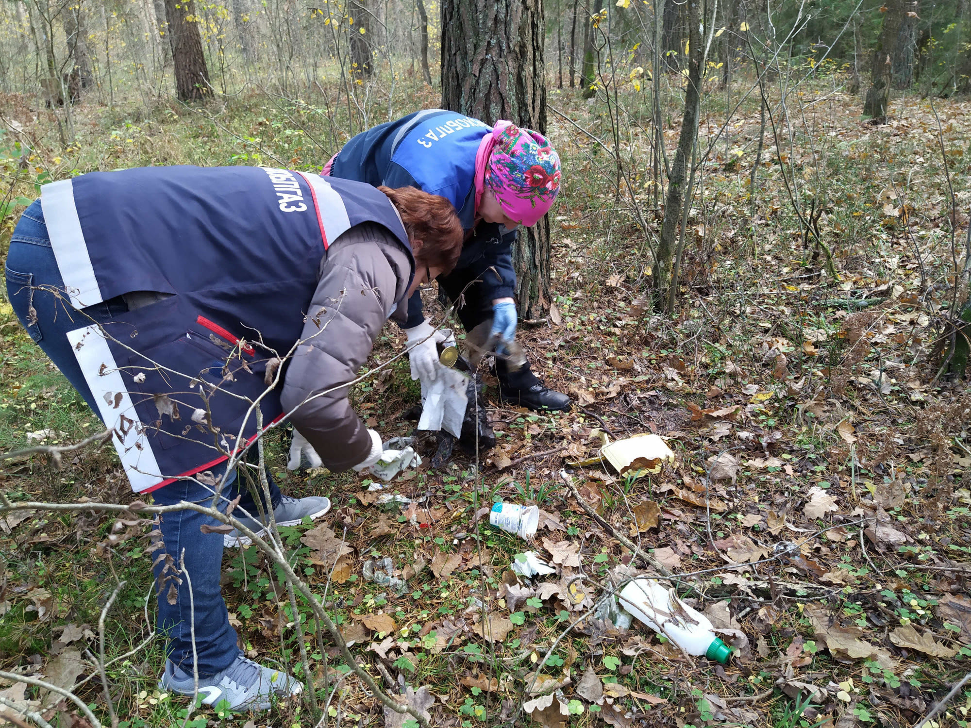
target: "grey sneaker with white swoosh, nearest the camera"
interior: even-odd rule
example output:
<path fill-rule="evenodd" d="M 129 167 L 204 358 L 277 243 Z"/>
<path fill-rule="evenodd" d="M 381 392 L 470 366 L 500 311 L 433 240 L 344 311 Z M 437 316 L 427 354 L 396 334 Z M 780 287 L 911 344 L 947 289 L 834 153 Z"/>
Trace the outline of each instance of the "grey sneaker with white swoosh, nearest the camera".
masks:
<path fill-rule="evenodd" d="M 165 661 L 165 673 L 158 689 L 191 696 L 194 692 L 192 673 L 185 673 L 171 660 Z M 303 684 L 286 673 L 247 659 L 242 654 L 236 661 L 211 678 L 199 678 L 199 695 L 207 706 L 230 711 L 266 711 L 274 699 L 282 700 L 303 692 Z"/>

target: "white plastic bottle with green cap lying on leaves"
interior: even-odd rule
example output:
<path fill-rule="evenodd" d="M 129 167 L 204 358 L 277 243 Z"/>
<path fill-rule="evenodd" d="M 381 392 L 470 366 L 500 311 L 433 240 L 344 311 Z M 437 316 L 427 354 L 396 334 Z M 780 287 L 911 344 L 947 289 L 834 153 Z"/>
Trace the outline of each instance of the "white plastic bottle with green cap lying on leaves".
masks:
<path fill-rule="evenodd" d="M 667 589 L 654 579 L 633 579 L 619 596 L 623 609 L 688 654 L 705 655 L 722 665 L 731 657 L 731 647 L 715 636 L 708 617 L 688 607 L 674 589 Z"/>

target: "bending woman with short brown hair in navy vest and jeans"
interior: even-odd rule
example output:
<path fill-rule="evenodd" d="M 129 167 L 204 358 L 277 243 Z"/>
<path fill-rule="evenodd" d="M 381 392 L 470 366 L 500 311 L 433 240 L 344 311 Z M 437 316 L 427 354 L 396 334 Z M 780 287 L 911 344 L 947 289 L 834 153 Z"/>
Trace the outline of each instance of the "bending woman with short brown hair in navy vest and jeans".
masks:
<path fill-rule="evenodd" d="M 461 240 L 452 204 L 411 187 L 259 167 L 95 172 L 42 187 L 11 239 L 7 292 L 137 493 L 223 513 L 238 498 L 232 515 L 260 535 L 271 515 L 293 525 L 330 501 L 289 498 L 269 473 L 261 487 L 228 457 L 288 418 L 330 470 L 376 463 L 382 439 L 352 411 L 350 382 Z M 302 686 L 237 646 L 221 558 L 250 540 L 220 526 L 192 510 L 158 519 L 159 687 L 192 695 L 194 667 L 204 703 L 267 709 Z"/>

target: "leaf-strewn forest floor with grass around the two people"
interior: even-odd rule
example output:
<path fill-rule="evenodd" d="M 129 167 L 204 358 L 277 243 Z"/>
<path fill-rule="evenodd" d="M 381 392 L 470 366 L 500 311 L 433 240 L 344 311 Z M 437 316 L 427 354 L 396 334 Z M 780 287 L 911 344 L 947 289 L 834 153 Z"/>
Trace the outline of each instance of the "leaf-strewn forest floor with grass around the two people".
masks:
<path fill-rule="evenodd" d="M 832 83 L 793 90 L 789 123 L 768 122 L 754 198 L 757 101 L 732 118 L 727 141 L 720 137 L 701 168 L 674 316 L 645 302 L 650 238 L 613 186 L 618 151 L 656 233 L 643 99 L 624 91 L 630 120 L 617 145 L 606 141 L 607 107 L 552 89 L 552 106 L 573 120 L 551 114 L 565 181 L 551 215 L 554 310 L 523 324 L 520 337 L 538 374 L 570 392 L 573 410 L 500 406 L 486 375 L 497 446 L 478 463 L 456 448 L 438 471 L 426 457 L 383 491 L 409 502 L 386 506 L 363 477 L 285 471 L 283 437 L 269 438 L 285 492 L 334 502 L 321 524 L 283 529 L 293 563 L 357 658 L 391 693 L 417 690 L 410 699 L 432 725 L 517 715 L 526 725 L 529 713 L 545 726 L 903 728 L 971 670 L 971 397 L 965 381 L 938 376 L 937 351 L 953 330 L 954 269 L 964 257 L 971 105 L 932 107 L 912 96 L 887 124 L 870 125 L 859 100 Z M 409 103 L 433 106 L 437 94 L 419 91 Z M 73 170 L 278 158 L 319 167 L 331 145 L 322 131 L 311 139 L 314 114 L 304 107 L 312 104 L 253 95 L 196 110 L 80 107 L 78 141 L 63 149 L 51 141 L 49 112 L 0 99 L 5 122 L 17 119 L 35 149 L 20 170 L 16 135 L 0 137 L 4 179 L 18 181 L 0 249 L 34 184 Z M 725 116 L 724 104 L 711 106 L 702 151 Z M 672 106 L 672 154 L 677 118 Z M 835 278 L 814 239 L 806 242 L 787 189 L 815 219 Z M 6 302 L 0 337 L 0 451 L 97 431 L 100 422 Z M 387 327 L 374 361 L 403 343 Z M 387 438 L 412 431 L 401 415 L 418 394 L 401 359 L 353 397 Z M 676 454 L 657 474 L 636 479 L 578 464 L 596 458 L 605 438 L 646 433 Z M 110 447 L 81 450 L 60 471 L 40 458 L 6 461 L 0 488 L 12 500 L 50 503 L 133 498 Z M 542 510 L 533 543 L 488 524 L 499 500 Z M 120 725 L 182 724 L 185 701 L 155 687 L 161 645 L 136 649 L 153 625 L 148 529 L 122 526 L 109 542 L 114 524 L 105 513 L 0 518 L 0 669 L 64 687 L 86 680 L 77 693 L 106 719 L 94 670 L 98 619 L 125 580 L 104 634 L 107 656 L 123 656 L 107 670 Z M 618 536 L 669 570 L 678 592 L 709 616 L 733 648 L 727 665 L 688 657 L 636 621 L 617 629 L 594 613 L 631 570 L 653 573 Z M 518 579 L 511 566 L 527 550 L 554 573 Z M 401 593 L 364 578 L 365 562 L 384 557 L 406 582 Z M 299 674 L 294 615 L 263 557 L 252 547 L 227 550 L 224 568 L 223 593 L 248 654 Z M 331 724 L 402 725 L 385 723 L 329 640 L 309 651 L 318 686 L 338 686 Z M 53 702 L 9 681 L 0 681 L 0 696 L 35 708 Z M 59 707 L 60 725 L 85 725 L 69 717 L 73 706 Z M 934 724 L 966 726 L 969 708 L 971 686 Z M 188 723 L 207 724 L 316 721 L 304 705 L 197 711 Z"/>

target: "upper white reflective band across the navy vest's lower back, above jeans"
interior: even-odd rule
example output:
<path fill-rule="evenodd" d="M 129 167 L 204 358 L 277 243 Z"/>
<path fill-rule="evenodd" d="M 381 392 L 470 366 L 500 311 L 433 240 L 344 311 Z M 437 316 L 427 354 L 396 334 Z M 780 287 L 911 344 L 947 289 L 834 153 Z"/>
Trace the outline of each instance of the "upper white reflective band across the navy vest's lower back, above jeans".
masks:
<path fill-rule="evenodd" d="M 87 254 L 72 181 L 50 182 L 41 187 L 41 208 L 48 226 L 50 248 L 71 303 L 76 309 L 101 303 L 105 299 Z"/>

